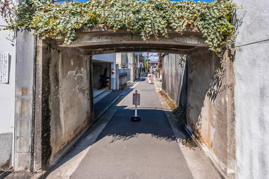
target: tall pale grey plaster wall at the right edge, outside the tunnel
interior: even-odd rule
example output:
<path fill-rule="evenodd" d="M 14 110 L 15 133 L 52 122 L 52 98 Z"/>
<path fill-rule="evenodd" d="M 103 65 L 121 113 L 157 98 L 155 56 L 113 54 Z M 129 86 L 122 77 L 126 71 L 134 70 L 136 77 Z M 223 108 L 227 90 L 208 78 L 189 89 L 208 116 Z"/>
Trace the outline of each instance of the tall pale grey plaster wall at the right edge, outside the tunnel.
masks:
<path fill-rule="evenodd" d="M 238 179 L 269 179 L 269 0 L 234 0 Z"/>

